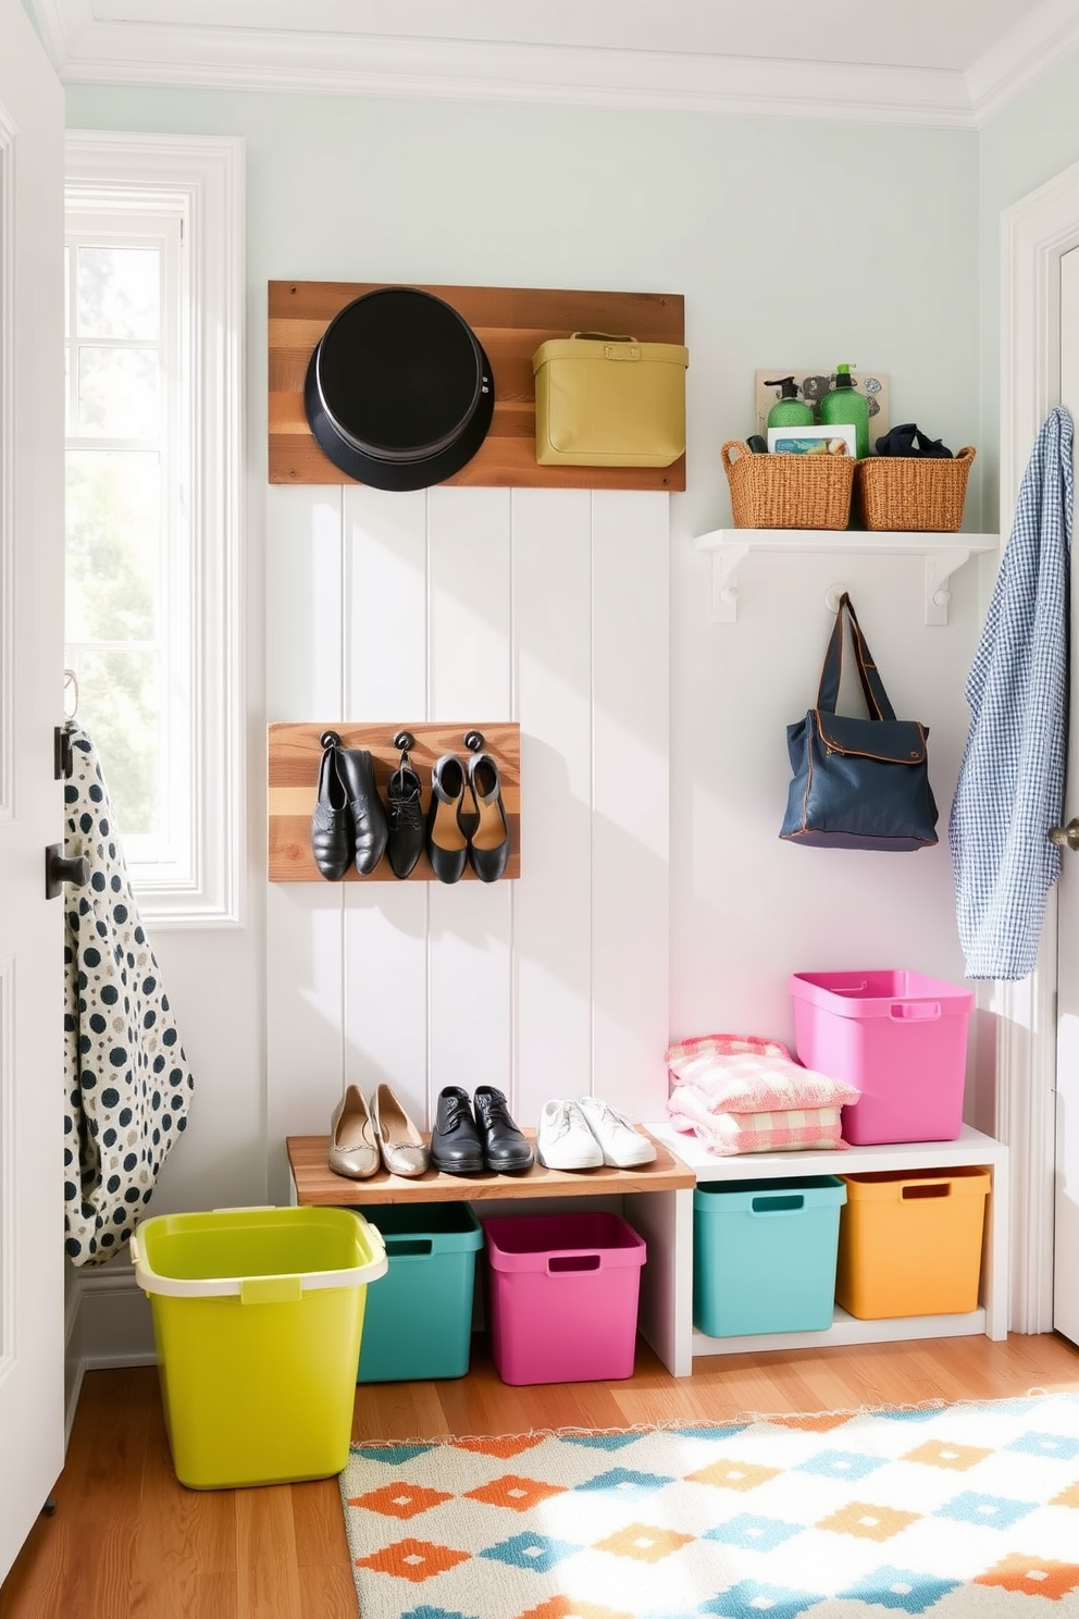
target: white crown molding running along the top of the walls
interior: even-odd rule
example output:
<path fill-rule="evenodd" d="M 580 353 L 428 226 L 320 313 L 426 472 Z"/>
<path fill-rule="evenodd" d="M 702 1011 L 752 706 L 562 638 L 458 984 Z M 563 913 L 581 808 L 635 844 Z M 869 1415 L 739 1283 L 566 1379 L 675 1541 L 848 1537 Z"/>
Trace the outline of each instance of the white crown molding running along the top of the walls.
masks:
<path fill-rule="evenodd" d="M 99 19 L 31 0 L 65 84 L 138 84 L 639 108 L 977 130 L 1079 47 L 1079 0 L 1043 0 L 966 73 L 688 52 L 513 45 Z"/>

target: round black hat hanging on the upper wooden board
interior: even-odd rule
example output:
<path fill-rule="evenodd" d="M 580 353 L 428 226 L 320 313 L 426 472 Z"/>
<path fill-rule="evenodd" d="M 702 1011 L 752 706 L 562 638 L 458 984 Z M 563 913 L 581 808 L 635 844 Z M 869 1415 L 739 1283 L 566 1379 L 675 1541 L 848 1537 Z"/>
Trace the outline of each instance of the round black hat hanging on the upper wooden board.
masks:
<path fill-rule="evenodd" d="M 375 489 L 427 489 L 472 460 L 495 385 L 468 321 L 434 293 L 379 287 L 322 334 L 304 410 L 335 466 Z"/>

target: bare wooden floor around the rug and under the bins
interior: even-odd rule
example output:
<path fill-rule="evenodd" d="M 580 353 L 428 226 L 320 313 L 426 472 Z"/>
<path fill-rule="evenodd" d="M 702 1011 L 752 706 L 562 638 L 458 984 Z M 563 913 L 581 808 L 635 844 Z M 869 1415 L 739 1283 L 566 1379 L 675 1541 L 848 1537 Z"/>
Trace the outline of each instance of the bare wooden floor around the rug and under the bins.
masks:
<path fill-rule="evenodd" d="M 411 1439 L 624 1428 L 1079 1391 L 1079 1350 L 1053 1334 L 773 1350 L 696 1366 L 692 1378 L 671 1378 L 641 1345 L 624 1383 L 514 1389 L 477 1347 L 468 1378 L 361 1386 L 353 1431 Z M 86 1376 L 55 1501 L 0 1588 L 0 1619 L 356 1619 L 336 1478 L 184 1489 L 154 1368 Z"/>

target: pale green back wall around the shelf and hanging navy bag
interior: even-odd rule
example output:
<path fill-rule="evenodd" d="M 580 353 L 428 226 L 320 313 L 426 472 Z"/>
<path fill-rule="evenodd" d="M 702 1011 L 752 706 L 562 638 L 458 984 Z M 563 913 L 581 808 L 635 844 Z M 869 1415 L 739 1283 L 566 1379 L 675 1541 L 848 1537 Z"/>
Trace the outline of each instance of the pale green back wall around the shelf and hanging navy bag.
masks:
<path fill-rule="evenodd" d="M 775 834 L 789 779 L 785 727 L 812 701 L 830 628 L 825 589 L 836 580 L 854 593 L 896 709 L 932 729 L 943 829 L 966 730 L 972 570 L 956 578 L 945 631 L 924 625 L 917 559 L 757 559 L 739 583 L 739 623 L 721 627 L 692 538 L 730 525 L 720 445 L 752 431 L 757 368 L 878 368 L 891 379 L 893 421 L 917 421 L 953 447 L 977 442 L 974 133 L 107 89 L 71 89 L 68 123 L 246 138 L 252 601 L 265 533 L 267 280 L 683 293 L 691 366 L 688 489 L 671 499 L 671 1033 L 789 1039 L 788 971 L 848 967 L 836 952 L 961 975 L 943 842 L 916 871 L 880 856 L 886 869 L 874 866 L 867 905 L 859 858 L 802 852 L 789 861 Z M 980 526 L 977 476 L 966 520 Z M 259 716 L 254 672 L 249 701 Z M 762 886 L 780 899 L 765 902 Z M 162 971 L 178 983 L 170 999 L 180 1009 L 186 992 L 197 1007 L 201 958 L 188 965 L 175 936 L 162 949 Z M 199 1043 L 212 1046 L 202 1023 L 188 1049 Z"/>

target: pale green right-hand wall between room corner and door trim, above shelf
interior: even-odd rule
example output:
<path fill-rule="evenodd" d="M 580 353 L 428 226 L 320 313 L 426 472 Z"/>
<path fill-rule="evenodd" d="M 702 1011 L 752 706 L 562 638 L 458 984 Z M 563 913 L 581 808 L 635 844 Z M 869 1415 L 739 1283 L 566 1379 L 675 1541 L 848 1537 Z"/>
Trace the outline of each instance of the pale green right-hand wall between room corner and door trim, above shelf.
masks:
<path fill-rule="evenodd" d="M 1079 52 L 1006 107 L 980 134 L 982 442 L 988 525 L 1000 450 L 1000 215 L 1079 162 Z M 1006 526 L 1011 513 L 1001 513 Z"/>

